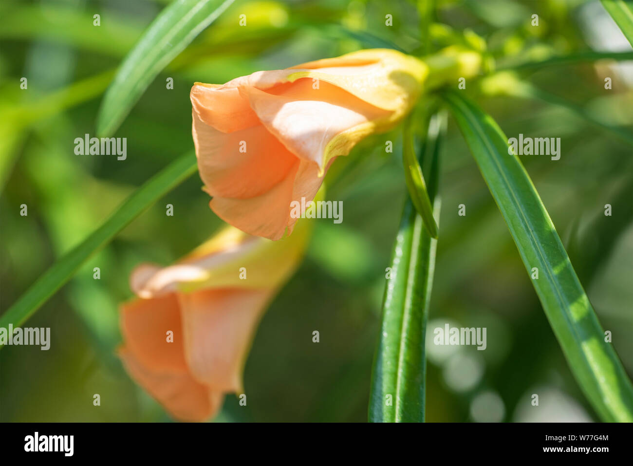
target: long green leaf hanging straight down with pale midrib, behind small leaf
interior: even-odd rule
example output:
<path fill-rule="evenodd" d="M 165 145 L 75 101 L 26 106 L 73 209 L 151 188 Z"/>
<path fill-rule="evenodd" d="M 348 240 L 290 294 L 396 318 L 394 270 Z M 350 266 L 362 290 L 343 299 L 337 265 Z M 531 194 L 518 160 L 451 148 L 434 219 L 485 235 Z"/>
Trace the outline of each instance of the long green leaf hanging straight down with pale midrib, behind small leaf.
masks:
<path fill-rule="evenodd" d="M 432 121 L 439 125 L 438 119 Z M 429 131 L 423 162 L 430 168 L 429 194 L 439 220 L 439 140 L 434 129 Z M 408 198 L 382 304 L 382 325 L 372 371 L 371 422 L 424 421 L 424 341 L 436 245 L 437 240 L 424 229 L 422 217 Z"/>

